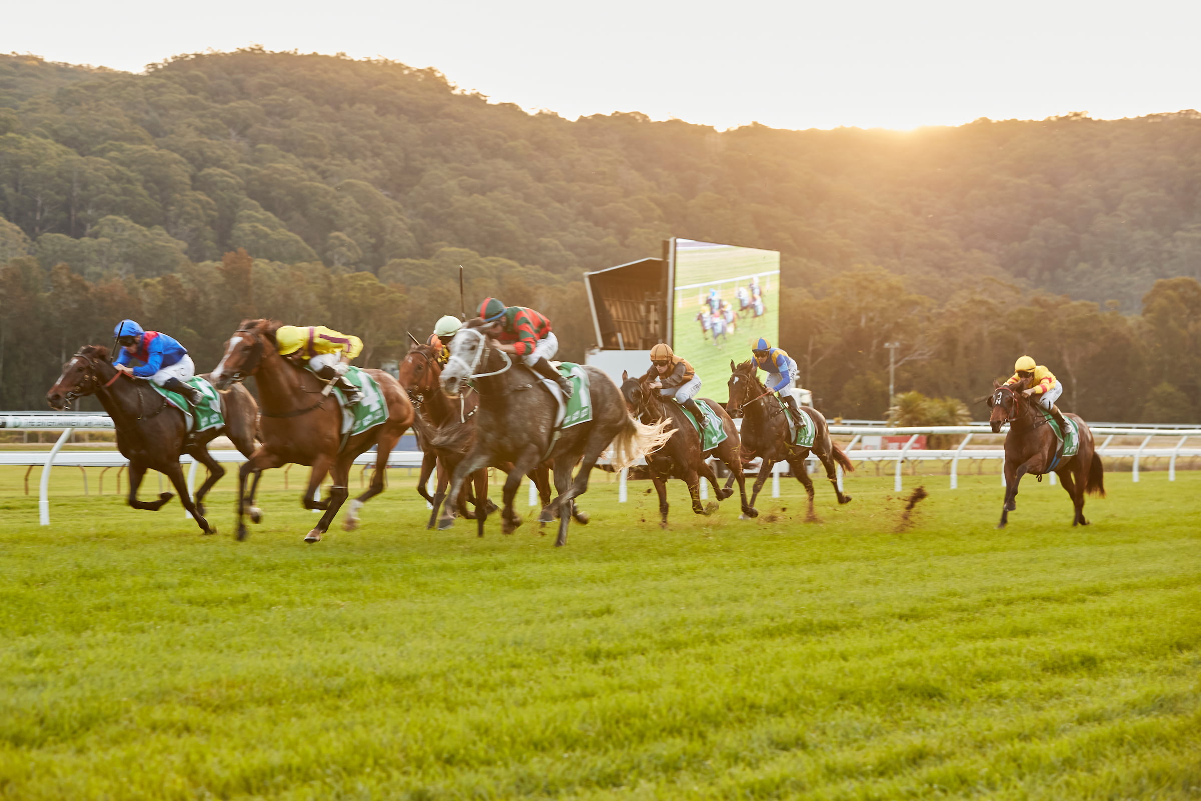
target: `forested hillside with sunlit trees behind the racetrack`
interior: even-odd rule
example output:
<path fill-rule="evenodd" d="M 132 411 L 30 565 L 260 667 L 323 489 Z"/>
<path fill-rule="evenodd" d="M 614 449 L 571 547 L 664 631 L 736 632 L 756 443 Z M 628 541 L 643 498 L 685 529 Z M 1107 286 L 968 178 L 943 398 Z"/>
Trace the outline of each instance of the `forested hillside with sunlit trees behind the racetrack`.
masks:
<path fill-rule="evenodd" d="M 203 369 L 251 313 L 354 329 L 378 361 L 458 311 L 460 263 L 580 358 L 580 270 L 680 235 L 782 251 L 783 345 L 826 411 L 878 417 L 900 337 L 903 389 L 968 400 L 1032 351 L 1087 416 L 1195 419 L 1201 286 L 1155 281 L 1201 276 L 1199 154 L 1194 112 L 716 132 L 383 61 L 0 56 L 0 407 L 127 315 Z"/>

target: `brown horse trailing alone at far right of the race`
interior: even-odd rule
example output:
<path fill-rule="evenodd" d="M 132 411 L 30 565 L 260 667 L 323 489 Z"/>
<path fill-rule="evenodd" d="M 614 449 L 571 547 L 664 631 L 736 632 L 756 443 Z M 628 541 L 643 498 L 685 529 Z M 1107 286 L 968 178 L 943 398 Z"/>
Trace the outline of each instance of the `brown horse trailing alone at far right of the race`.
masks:
<path fill-rule="evenodd" d="M 1071 496 L 1071 525 L 1087 526 L 1085 495 L 1105 497 L 1105 467 L 1097 453 L 1093 432 L 1080 416 L 1064 414 L 1064 418 L 1074 419 L 1080 429 L 1080 449 L 1075 456 L 1062 459 L 1052 468 L 1059 443 L 1036 404 L 1021 394 L 1026 388 L 1026 381 L 1009 385 L 993 382 L 992 395 L 988 396 L 988 406 L 992 407 L 988 424 L 992 432 L 1000 434 L 1000 426 L 1009 423 L 1009 434 L 1005 435 L 1005 502 L 1002 504 L 997 527 L 1004 528 L 1009 522 L 1009 513 L 1017 508 L 1017 484 L 1022 476 L 1034 473 L 1041 482 L 1042 474 L 1052 470 Z"/>

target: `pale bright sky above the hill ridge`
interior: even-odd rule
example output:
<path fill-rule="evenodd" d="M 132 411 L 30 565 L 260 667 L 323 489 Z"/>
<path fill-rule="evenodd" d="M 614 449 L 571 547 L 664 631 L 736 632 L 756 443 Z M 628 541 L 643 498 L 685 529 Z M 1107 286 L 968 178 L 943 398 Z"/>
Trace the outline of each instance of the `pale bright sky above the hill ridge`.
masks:
<path fill-rule="evenodd" d="M 1201 108 L 1199 25 L 1201 4 L 1163 0 L 59 0 L 8 4 L 0 52 L 141 71 L 257 43 L 432 66 L 573 119 L 912 128 Z"/>

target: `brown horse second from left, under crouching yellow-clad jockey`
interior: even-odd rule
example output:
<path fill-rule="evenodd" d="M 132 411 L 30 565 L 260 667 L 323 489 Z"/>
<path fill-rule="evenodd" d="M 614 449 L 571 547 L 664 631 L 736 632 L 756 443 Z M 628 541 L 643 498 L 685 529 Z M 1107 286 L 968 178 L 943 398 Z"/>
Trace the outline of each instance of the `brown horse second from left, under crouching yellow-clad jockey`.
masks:
<path fill-rule="evenodd" d="M 342 441 L 342 411 L 337 402 L 323 395 L 325 382 L 303 367 L 288 364 L 275 348 L 275 331 L 280 323 L 270 319 L 243 321 L 226 346 L 225 357 L 213 371 L 219 388 L 255 376 L 258 399 L 263 405 L 263 444 L 241 466 L 238 473 L 238 539 L 247 536 L 243 515 L 249 510 L 258 522 L 262 514 L 255 507 L 251 490 L 246 496 L 246 477 L 288 462 L 312 467 L 309 488 L 300 502 L 306 509 L 324 510 L 317 525 L 305 536 L 306 543 L 321 540 L 329 531 L 348 492 L 351 465 L 355 456 L 376 446 L 376 468 L 371 486 L 351 501 L 342 527 L 354 531 L 359 524 L 359 508 L 383 491 L 388 455 L 413 424 L 413 405 L 396 379 L 383 370 L 364 370 L 375 378 L 388 407 L 388 419 L 362 434 Z M 334 479 L 329 497 L 315 501 L 313 492 L 329 473 Z"/>

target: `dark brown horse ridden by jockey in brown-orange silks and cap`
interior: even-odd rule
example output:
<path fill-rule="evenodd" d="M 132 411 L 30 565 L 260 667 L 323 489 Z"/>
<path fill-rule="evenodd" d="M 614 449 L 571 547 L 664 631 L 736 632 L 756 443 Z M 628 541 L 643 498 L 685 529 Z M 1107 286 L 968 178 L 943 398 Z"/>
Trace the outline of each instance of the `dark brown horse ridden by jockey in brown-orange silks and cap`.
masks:
<path fill-rule="evenodd" d="M 668 490 L 669 478 L 679 478 L 688 485 L 688 495 L 692 496 L 692 510 L 697 514 L 712 514 L 717 510 L 717 503 L 710 502 L 707 507 L 700 503 L 700 479 L 707 478 L 710 486 L 717 494 L 718 501 L 734 495 L 734 490 L 727 485 L 718 486 L 717 474 L 707 456 L 716 455 L 729 467 L 730 476 L 739 482 L 739 494 L 742 497 L 742 518 L 758 518 L 759 513 L 747 503 L 746 477 L 742 474 L 742 459 L 740 456 L 739 430 L 734 420 L 725 413 L 721 404 L 703 397 L 722 419 L 722 429 L 725 430 L 723 440 L 711 452 L 701 450 L 700 436 L 689 422 L 688 413 L 680 404 L 669 400 L 659 394 L 657 389 L 650 387 L 650 376 L 631 376 L 628 372 L 621 373 L 621 394 L 626 400 L 626 408 L 643 423 L 657 424 L 663 420 L 671 426 L 671 438 L 662 448 L 646 456 L 646 465 L 650 467 L 651 480 L 655 483 L 655 491 L 659 496 L 659 527 L 668 527 Z"/>

